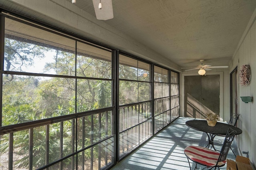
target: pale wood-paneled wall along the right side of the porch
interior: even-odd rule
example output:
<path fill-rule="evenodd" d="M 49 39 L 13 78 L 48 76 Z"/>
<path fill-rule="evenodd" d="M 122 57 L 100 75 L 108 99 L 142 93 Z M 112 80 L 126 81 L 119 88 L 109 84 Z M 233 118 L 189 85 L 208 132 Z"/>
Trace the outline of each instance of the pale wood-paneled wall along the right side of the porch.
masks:
<path fill-rule="evenodd" d="M 238 136 L 238 149 L 242 156 L 243 151 L 249 151 L 249 158 L 252 163 L 256 164 L 256 103 L 242 102 L 240 96 L 252 96 L 256 100 L 256 12 L 252 15 L 248 27 L 241 38 L 240 44 L 230 68 L 238 66 L 238 73 L 243 64 L 250 64 L 251 67 L 251 82 L 249 86 L 241 86 L 238 84 L 238 111 L 240 118 L 238 126 L 243 133 Z M 230 69 L 230 72 L 232 70 Z M 238 77 L 239 78 L 239 77 Z M 238 82 L 239 83 L 239 82 Z"/>

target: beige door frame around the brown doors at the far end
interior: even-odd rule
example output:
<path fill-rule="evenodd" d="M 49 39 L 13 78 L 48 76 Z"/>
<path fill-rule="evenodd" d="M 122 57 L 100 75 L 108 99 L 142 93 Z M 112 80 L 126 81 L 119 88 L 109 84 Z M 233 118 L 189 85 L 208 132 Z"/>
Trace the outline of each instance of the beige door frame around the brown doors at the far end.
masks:
<path fill-rule="evenodd" d="M 220 75 L 220 121 L 223 121 L 223 72 L 207 72 L 207 75 Z M 196 73 L 182 73 L 182 86 L 181 86 L 181 102 L 180 102 L 180 114 L 184 116 L 184 82 L 185 76 L 200 76 L 197 72 Z"/>

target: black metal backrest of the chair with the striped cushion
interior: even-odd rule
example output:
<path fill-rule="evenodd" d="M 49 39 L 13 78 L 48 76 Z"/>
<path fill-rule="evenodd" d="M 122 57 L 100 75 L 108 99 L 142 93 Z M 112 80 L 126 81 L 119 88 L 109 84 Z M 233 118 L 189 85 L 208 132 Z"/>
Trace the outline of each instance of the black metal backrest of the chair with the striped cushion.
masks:
<path fill-rule="evenodd" d="M 235 135 L 236 135 L 236 131 L 229 128 L 226 134 L 225 140 L 223 142 L 222 148 L 220 150 L 220 156 L 219 156 L 218 162 L 226 160 L 226 157 L 228 155 L 228 150 L 230 149 L 230 146 L 232 144 L 232 141 L 234 140 Z"/>

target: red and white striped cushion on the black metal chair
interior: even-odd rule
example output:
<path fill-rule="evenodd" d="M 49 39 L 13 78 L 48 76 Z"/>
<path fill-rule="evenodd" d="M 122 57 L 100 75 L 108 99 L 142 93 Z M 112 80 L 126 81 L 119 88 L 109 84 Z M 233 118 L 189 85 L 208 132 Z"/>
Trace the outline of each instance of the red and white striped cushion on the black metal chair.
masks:
<path fill-rule="evenodd" d="M 184 150 L 186 156 L 199 164 L 204 164 L 208 167 L 216 165 L 220 153 L 205 147 L 189 146 Z M 218 162 L 218 166 L 226 163 L 226 160 Z"/>

